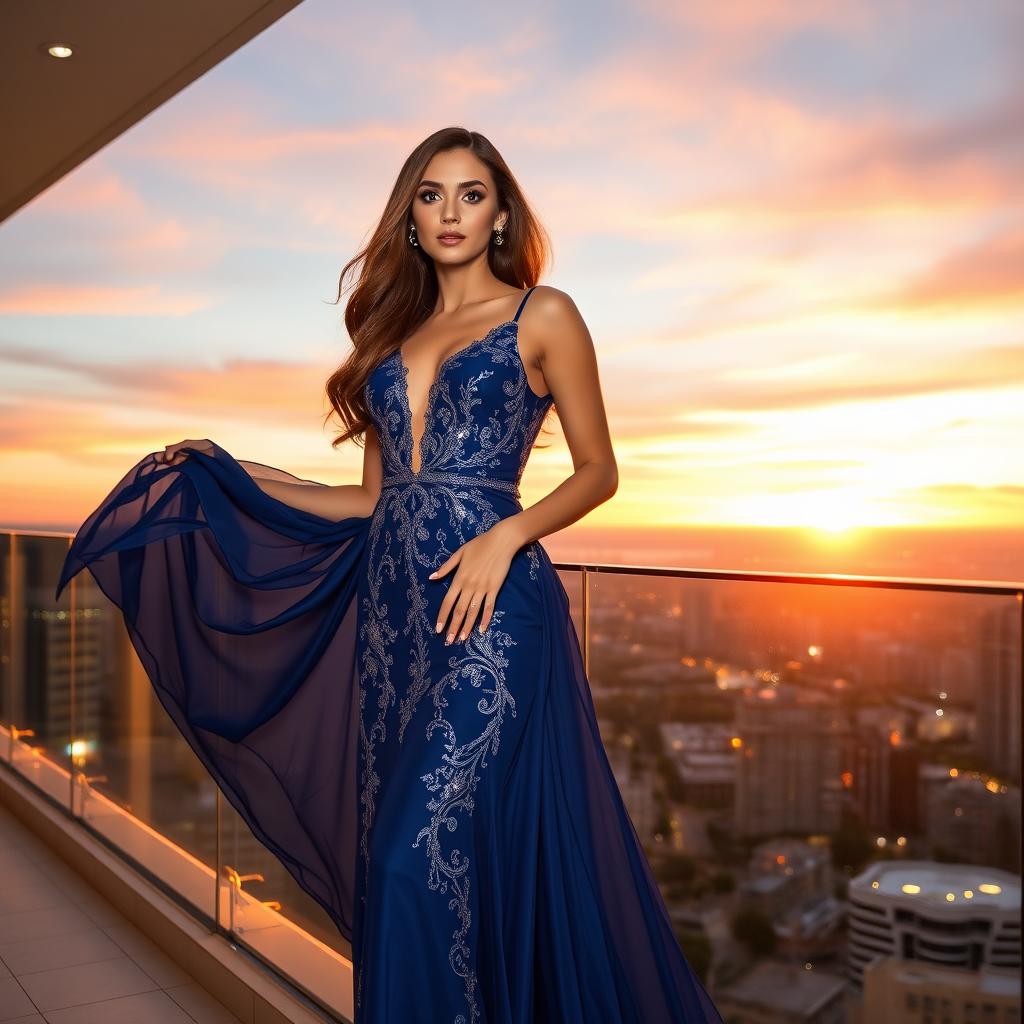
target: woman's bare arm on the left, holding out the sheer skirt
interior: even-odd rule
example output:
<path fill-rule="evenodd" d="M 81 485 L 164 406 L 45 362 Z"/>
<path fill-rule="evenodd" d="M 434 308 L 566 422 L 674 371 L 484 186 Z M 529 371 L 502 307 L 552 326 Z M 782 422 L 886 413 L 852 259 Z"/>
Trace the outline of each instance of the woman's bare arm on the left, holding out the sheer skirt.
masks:
<path fill-rule="evenodd" d="M 209 440 L 184 440 L 168 444 L 157 461 L 174 465 L 187 458 L 181 449 L 191 447 L 203 451 Z M 324 519 L 338 522 L 353 516 L 369 516 L 381 490 L 380 443 L 374 428 L 367 428 L 367 439 L 362 456 L 362 482 L 337 485 L 321 483 L 318 480 L 304 480 L 283 469 L 266 466 L 246 459 L 234 460 L 252 477 L 253 482 L 271 498 L 284 502 L 292 508 L 311 512 Z"/>

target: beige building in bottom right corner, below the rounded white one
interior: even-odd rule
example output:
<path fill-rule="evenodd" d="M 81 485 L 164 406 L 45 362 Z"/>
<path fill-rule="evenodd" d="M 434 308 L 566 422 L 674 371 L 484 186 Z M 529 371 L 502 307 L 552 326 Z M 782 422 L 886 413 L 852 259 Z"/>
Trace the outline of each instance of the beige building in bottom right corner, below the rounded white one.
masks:
<path fill-rule="evenodd" d="M 863 1020 L 870 1024 L 1019 1024 L 1020 972 L 938 967 L 880 958 L 864 969 Z"/>

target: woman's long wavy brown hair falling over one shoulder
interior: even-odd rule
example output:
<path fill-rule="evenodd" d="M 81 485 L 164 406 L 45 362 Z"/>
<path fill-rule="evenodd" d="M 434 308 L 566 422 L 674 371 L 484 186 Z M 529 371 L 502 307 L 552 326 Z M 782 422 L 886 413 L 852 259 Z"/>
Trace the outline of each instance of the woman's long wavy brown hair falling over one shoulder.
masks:
<path fill-rule="evenodd" d="M 407 225 L 427 165 L 435 154 L 456 148 L 469 150 L 487 165 L 498 190 L 498 209 L 508 210 L 504 243 L 496 246 L 492 236 L 487 250 L 494 275 L 517 288 L 529 288 L 540 280 L 549 260 L 547 232 L 489 139 L 459 127 L 441 128 L 428 135 L 401 165 L 370 241 L 341 271 L 335 304 L 341 301 L 346 275 L 362 265 L 345 306 L 345 327 L 353 350 L 326 385 L 332 409 L 325 423 L 337 415 L 342 424 L 341 432 L 331 442 L 334 447 L 349 438 L 365 440 L 371 421 L 362 389 L 370 374 L 431 315 L 436 305 L 433 260 L 422 248 L 410 244 Z"/>

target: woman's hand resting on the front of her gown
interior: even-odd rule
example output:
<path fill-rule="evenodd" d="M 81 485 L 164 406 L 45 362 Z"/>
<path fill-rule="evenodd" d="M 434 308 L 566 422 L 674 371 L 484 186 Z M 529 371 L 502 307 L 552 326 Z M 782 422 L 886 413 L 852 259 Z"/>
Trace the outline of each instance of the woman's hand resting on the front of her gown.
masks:
<path fill-rule="evenodd" d="M 490 529 L 467 541 L 430 573 L 430 579 L 436 580 L 456 566 L 459 568 L 441 601 L 434 627 L 434 632 L 440 633 L 454 607 L 445 644 L 452 643 L 456 633 L 459 633 L 460 641 L 465 640 L 478 611 L 482 611 L 480 632 L 483 633 L 489 625 L 495 598 L 508 575 L 513 555 L 521 547 L 512 529 L 505 525 L 507 522 L 507 519 L 502 519 Z"/>

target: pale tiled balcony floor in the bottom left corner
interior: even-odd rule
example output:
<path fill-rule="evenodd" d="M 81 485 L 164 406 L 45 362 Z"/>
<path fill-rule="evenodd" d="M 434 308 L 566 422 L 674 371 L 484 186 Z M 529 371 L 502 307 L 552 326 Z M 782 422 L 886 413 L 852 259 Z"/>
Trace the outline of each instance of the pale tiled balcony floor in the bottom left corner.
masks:
<path fill-rule="evenodd" d="M 239 1024 L 4 807 L 0 1021 Z"/>

